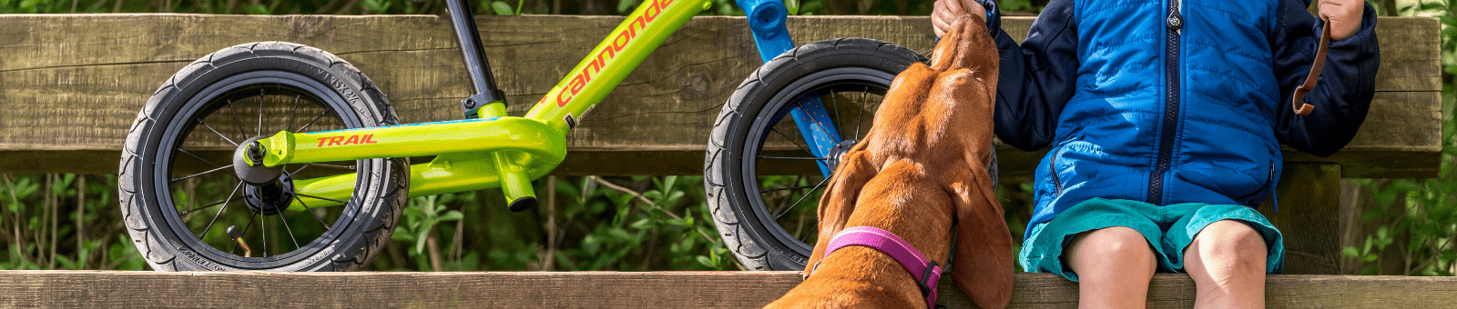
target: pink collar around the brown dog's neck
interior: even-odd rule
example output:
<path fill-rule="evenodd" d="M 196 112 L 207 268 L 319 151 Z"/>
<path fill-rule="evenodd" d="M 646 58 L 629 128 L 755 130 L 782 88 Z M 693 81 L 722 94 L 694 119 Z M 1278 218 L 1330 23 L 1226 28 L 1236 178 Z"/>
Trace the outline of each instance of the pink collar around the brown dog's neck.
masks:
<path fill-rule="evenodd" d="M 941 265 L 927 259 L 921 251 L 916 251 L 905 239 L 870 226 L 848 227 L 829 240 L 825 258 L 829 258 L 829 254 L 845 246 L 868 246 L 895 258 L 911 273 L 911 277 L 919 275 L 916 284 L 921 287 L 921 296 L 925 296 L 927 308 L 935 308 L 935 283 L 941 280 Z M 814 267 L 817 268 L 819 265 Z"/>

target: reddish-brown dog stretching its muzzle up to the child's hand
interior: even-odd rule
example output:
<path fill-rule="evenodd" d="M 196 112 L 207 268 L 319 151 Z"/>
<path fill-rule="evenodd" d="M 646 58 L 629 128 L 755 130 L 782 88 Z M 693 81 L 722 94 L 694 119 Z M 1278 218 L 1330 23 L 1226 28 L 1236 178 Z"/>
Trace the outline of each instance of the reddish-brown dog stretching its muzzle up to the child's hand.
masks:
<path fill-rule="evenodd" d="M 820 200 L 804 283 L 769 308 L 927 308 L 921 275 L 889 255 L 848 246 L 825 258 L 825 249 L 845 227 L 873 226 L 944 265 L 953 223 L 957 286 L 982 308 L 1007 306 L 1011 233 L 986 172 L 997 69 L 983 17 L 963 15 L 930 67 L 912 64 L 896 76 L 874 127 L 845 153 Z"/>

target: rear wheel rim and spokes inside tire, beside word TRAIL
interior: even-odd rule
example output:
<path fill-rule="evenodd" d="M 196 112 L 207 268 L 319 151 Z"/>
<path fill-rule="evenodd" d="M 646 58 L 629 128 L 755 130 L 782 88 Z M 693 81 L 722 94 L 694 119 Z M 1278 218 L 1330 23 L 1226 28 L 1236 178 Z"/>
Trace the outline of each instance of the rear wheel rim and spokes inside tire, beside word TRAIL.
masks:
<path fill-rule="evenodd" d="M 239 181 L 232 175 L 230 159 L 236 143 L 280 130 L 363 127 L 358 115 L 348 111 L 353 109 L 347 101 L 326 85 L 286 71 L 232 76 L 191 96 L 162 134 L 153 171 L 154 192 L 162 192 L 156 200 L 168 220 L 166 227 L 185 246 L 179 251 L 191 251 L 181 254 L 198 264 L 211 261 L 233 268 L 275 268 L 332 254 L 322 251 L 331 249 L 328 243 L 351 236 L 345 230 L 350 230 L 348 223 L 354 222 L 361 207 L 354 203 L 356 198 L 342 201 L 344 206 L 307 211 L 280 210 L 275 204 L 270 208 L 267 201 L 249 203 L 251 198 L 245 197 L 249 192 L 267 195 L 275 191 L 270 191 L 268 185 Z M 280 114 L 288 115 L 287 121 Z M 339 175 L 369 171 L 379 163 L 380 159 L 305 163 L 287 165 L 283 171 L 291 178 Z M 356 188 L 364 188 L 360 182 L 366 181 L 357 178 Z M 221 192 L 208 200 L 179 194 L 189 191 L 185 189 L 188 187 L 197 188 L 197 184 L 210 184 Z M 242 242 L 227 235 L 229 226 L 237 229 Z"/>

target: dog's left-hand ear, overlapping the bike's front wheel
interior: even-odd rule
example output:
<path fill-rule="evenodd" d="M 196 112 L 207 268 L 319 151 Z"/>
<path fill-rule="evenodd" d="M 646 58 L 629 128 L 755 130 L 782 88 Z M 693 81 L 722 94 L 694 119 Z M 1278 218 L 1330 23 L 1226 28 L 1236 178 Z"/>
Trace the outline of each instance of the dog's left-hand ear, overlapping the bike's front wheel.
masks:
<path fill-rule="evenodd" d="M 870 140 L 870 134 L 865 136 L 865 140 Z M 814 252 L 810 254 L 809 264 L 804 265 L 806 277 L 814 271 L 814 264 L 825 258 L 825 249 L 829 246 L 829 240 L 835 238 L 835 233 L 845 229 L 845 222 L 855 211 L 855 200 L 860 197 L 860 189 L 879 172 L 870 162 L 870 153 L 865 153 L 864 149 L 865 144 L 857 144 L 845 153 L 839 162 L 839 168 L 835 169 L 835 175 L 829 179 L 825 195 L 820 195 L 817 213 L 819 238 L 814 243 Z"/>

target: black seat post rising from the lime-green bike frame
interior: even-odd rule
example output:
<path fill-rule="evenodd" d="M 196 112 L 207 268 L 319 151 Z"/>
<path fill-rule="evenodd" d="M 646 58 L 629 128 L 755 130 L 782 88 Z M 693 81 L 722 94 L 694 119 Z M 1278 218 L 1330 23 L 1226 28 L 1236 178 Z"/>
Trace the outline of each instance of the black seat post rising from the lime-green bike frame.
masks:
<path fill-rule="evenodd" d="M 475 95 L 460 101 L 465 118 L 504 117 L 506 93 L 495 87 L 491 77 L 491 64 L 485 60 L 485 50 L 481 48 L 481 34 L 475 26 L 475 15 L 465 0 L 446 0 L 450 12 L 450 26 L 455 28 L 456 42 L 460 44 L 460 55 L 465 58 L 466 73 L 471 74 L 471 85 Z M 481 111 L 481 109 L 485 111 Z"/>

